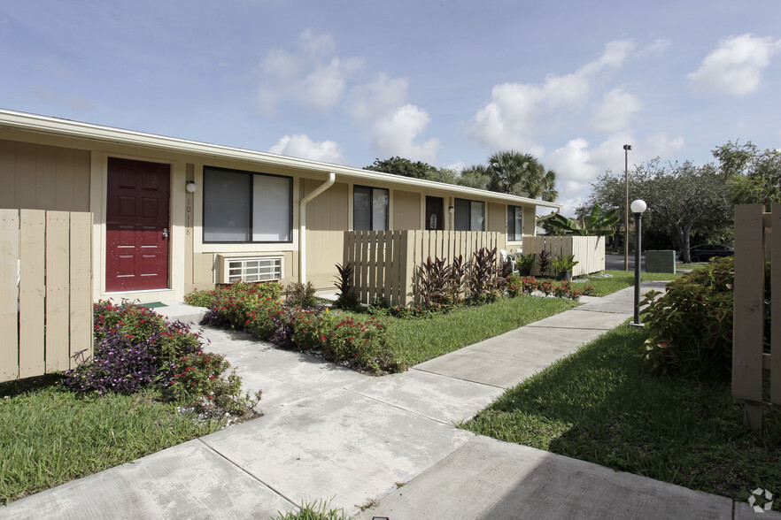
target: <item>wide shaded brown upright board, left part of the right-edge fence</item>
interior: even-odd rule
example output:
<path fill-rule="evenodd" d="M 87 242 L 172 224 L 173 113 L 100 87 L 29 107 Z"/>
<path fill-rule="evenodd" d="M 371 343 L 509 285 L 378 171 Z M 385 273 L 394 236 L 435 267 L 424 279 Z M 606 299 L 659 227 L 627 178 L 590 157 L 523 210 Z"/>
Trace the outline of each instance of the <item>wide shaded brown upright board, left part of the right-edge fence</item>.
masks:
<path fill-rule="evenodd" d="M 746 422 L 762 436 L 764 248 L 762 204 L 735 206 L 732 396 L 746 403 Z"/>

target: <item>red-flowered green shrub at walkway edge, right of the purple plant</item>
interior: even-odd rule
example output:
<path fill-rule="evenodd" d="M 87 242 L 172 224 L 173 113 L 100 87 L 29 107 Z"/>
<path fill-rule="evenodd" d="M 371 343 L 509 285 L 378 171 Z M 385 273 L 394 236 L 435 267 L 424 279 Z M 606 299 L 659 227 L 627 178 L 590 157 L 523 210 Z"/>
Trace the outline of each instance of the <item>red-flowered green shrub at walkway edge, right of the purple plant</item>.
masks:
<path fill-rule="evenodd" d="M 175 400 L 195 401 L 201 414 L 212 408 L 241 417 L 260 401 L 262 392 L 241 394 L 242 380 L 236 375 L 236 369 L 223 375 L 230 363 L 218 354 L 196 352 L 182 356 L 174 368 L 177 373 L 170 381 L 168 394 Z"/>

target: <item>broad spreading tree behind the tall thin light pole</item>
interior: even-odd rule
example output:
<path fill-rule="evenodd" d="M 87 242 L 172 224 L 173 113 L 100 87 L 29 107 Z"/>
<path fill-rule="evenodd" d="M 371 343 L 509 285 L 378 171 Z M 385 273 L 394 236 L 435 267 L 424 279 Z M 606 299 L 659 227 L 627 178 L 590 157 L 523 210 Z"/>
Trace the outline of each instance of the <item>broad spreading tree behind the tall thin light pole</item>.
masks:
<path fill-rule="evenodd" d="M 702 240 L 720 239 L 732 226 L 728 176 L 714 164 L 663 164 L 656 158 L 633 168 L 629 181 L 630 201 L 639 198 L 648 204 L 644 235 L 646 230 L 666 234 L 686 262 L 692 234 Z M 624 200 L 622 173 L 606 172 L 592 183 L 590 205 L 622 215 Z"/>

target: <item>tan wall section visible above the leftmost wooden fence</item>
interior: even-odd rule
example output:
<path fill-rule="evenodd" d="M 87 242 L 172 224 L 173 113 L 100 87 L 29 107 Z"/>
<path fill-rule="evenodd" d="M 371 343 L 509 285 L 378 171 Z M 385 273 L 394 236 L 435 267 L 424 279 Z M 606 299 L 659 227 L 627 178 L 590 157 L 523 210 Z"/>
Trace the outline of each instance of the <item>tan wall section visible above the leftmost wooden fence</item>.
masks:
<path fill-rule="evenodd" d="M 89 151 L 0 140 L 0 208 L 89 211 Z"/>

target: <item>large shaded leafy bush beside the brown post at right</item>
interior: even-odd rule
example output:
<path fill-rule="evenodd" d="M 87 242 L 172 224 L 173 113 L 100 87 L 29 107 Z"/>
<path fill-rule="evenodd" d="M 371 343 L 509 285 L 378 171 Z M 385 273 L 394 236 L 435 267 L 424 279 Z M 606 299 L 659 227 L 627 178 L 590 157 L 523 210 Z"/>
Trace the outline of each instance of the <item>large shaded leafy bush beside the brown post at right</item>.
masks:
<path fill-rule="evenodd" d="M 641 305 L 649 338 L 645 358 L 652 370 L 705 379 L 729 379 L 732 363 L 732 257 L 651 291 Z"/>

